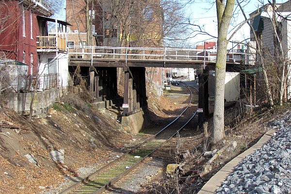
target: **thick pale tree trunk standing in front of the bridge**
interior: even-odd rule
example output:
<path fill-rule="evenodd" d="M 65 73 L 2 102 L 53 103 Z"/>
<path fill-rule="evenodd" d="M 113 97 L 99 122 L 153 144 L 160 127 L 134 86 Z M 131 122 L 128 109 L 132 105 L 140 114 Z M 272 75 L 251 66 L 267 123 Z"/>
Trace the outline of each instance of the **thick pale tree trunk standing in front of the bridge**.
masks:
<path fill-rule="evenodd" d="M 215 65 L 215 98 L 213 110 L 212 143 L 217 144 L 225 136 L 224 130 L 224 92 L 226 77 L 227 31 L 232 17 L 235 0 L 216 0 L 218 40 L 217 59 Z"/>

